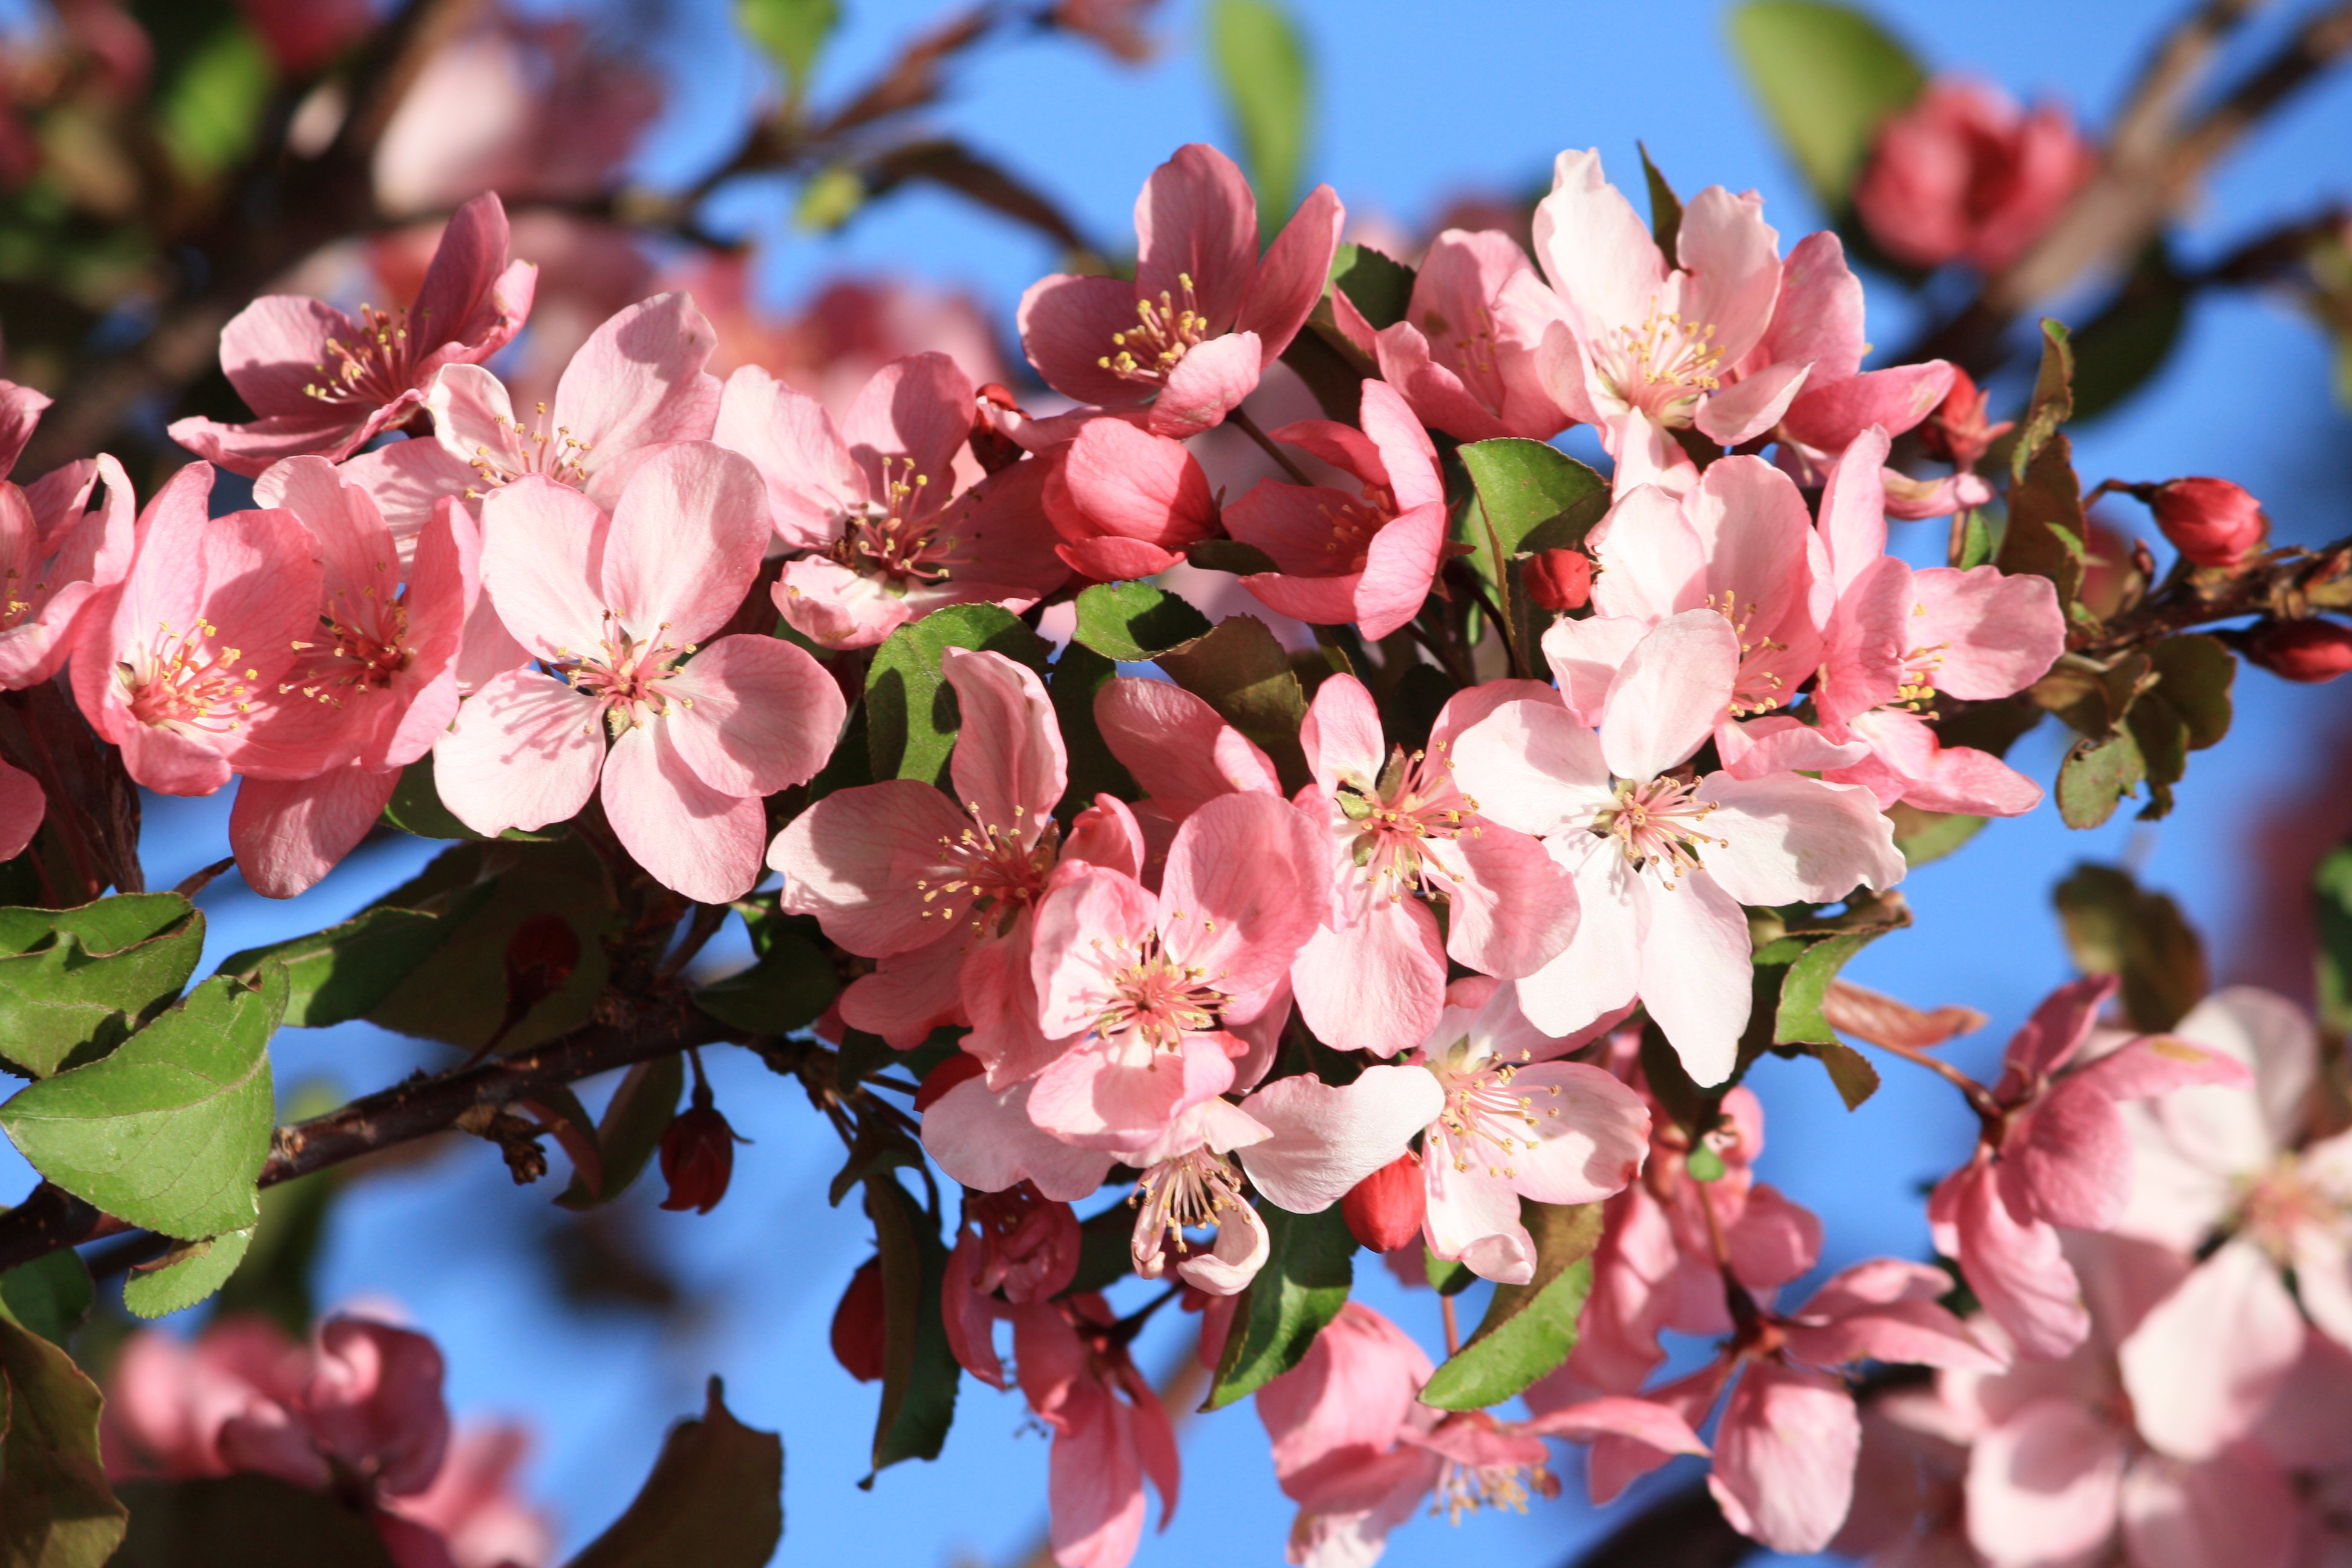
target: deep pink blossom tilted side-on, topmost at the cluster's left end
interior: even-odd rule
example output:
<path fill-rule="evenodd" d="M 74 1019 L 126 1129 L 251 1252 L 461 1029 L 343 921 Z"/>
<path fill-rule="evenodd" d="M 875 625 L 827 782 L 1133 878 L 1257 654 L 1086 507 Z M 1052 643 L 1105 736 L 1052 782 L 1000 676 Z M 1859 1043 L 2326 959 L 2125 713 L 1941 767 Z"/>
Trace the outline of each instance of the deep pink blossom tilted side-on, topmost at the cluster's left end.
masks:
<path fill-rule="evenodd" d="M 254 423 L 183 418 L 172 440 L 242 475 L 289 456 L 350 456 L 414 418 L 442 364 L 480 364 L 506 348 L 532 313 L 536 273 L 506 261 L 506 207 L 477 195 L 449 219 L 407 310 L 360 306 L 348 317 L 294 294 L 240 310 L 221 329 L 221 369 Z"/>

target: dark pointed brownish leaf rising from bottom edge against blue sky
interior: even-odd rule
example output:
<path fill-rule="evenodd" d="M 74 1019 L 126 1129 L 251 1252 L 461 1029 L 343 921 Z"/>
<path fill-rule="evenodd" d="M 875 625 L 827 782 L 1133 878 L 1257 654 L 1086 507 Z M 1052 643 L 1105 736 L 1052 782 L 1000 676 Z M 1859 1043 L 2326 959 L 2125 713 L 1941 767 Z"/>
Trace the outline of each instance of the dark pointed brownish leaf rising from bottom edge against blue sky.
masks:
<path fill-rule="evenodd" d="M 569 1568 L 764 1568 L 783 1540 L 783 1443 L 741 1425 L 710 1380 L 670 1427 L 635 1502 Z"/>

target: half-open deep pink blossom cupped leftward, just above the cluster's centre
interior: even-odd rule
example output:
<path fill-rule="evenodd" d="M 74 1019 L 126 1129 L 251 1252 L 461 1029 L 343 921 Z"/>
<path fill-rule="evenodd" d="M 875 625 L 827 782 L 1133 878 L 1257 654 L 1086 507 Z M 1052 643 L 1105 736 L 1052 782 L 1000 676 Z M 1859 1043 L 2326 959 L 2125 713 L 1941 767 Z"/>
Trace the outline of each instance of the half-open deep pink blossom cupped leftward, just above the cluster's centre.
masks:
<path fill-rule="evenodd" d="M 1305 418 L 1272 440 L 1322 458 L 1357 487 L 1261 480 L 1225 508 L 1225 531 L 1275 559 L 1242 588 L 1315 625 L 1388 637 L 1421 614 L 1444 557 L 1446 487 L 1437 449 L 1385 381 L 1364 383 L 1362 430 Z"/>

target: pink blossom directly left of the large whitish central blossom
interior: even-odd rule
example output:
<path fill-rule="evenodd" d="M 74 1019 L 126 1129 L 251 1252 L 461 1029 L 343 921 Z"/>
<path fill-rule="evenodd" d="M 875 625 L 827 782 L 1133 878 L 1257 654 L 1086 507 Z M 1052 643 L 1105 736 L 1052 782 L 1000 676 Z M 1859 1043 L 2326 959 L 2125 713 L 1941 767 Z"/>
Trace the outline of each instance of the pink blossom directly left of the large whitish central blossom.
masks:
<path fill-rule="evenodd" d="M 1341 1051 L 1395 1056 L 1444 1004 L 1446 957 L 1501 978 L 1534 973 L 1576 931 L 1576 889 L 1543 846 L 1477 816 L 1456 783 L 1456 738 L 1534 684 L 1491 682 L 1446 703 L 1425 750 L 1385 748 L 1371 693 L 1352 675 L 1315 691 L 1298 731 L 1315 771 L 1329 907 L 1291 966 L 1298 1011 Z M 1439 943 L 1432 900 L 1449 910 Z"/>

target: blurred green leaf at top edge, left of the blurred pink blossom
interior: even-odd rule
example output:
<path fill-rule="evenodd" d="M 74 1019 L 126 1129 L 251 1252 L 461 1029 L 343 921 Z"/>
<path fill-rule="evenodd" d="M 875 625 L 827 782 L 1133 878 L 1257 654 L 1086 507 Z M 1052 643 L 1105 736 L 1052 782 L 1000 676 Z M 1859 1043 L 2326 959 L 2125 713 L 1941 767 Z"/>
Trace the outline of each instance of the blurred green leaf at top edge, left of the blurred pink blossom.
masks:
<path fill-rule="evenodd" d="M 1731 47 L 1813 195 L 1844 212 L 1879 127 L 1926 71 L 1863 12 L 1818 0 L 1750 0 L 1731 12 Z"/>

